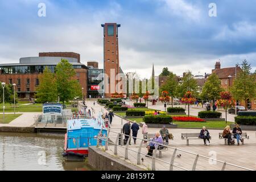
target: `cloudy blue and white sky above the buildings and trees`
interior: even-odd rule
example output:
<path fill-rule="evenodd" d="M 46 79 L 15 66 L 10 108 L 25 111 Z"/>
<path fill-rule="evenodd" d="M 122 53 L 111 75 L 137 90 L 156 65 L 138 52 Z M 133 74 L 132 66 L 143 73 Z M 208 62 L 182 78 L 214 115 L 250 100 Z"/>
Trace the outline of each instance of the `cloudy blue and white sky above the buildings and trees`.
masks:
<path fill-rule="evenodd" d="M 38 16 L 39 3 L 46 16 Z M 209 16 L 210 3 L 216 15 Z M 0 64 L 39 52 L 77 52 L 103 63 L 104 23 L 121 24 L 124 72 L 150 77 L 164 67 L 211 73 L 246 59 L 256 69 L 256 0 L 0 0 Z"/>

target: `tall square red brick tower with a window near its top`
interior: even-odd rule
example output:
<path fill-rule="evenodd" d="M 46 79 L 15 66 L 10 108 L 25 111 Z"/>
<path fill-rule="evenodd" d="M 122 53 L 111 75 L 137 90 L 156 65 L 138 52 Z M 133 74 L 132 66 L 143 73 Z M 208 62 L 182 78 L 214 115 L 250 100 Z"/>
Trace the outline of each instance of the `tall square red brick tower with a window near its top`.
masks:
<path fill-rule="evenodd" d="M 104 27 L 104 92 L 105 97 L 115 93 L 118 81 L 115 79 L 119 73 L 118 27 L 117 23 L 101 24 Z M 106 76 L 108 75 L 108 76 Z"/>

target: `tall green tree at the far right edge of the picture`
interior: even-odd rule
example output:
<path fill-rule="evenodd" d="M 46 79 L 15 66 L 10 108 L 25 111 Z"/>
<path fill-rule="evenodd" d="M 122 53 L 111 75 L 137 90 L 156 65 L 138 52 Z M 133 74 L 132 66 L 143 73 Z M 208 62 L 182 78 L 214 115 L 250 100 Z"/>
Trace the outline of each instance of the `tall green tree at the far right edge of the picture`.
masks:
<path fill-rule="evenodd" d="M 247 100 L 256 98 L 256 74 L 250 73 L 251 65 L 246 60 L 242 63 L 242 71 L 238 73 L 234 84 L 230 89 L 232 96 L 236 100 L 243 100 L 247 108 Z"/>

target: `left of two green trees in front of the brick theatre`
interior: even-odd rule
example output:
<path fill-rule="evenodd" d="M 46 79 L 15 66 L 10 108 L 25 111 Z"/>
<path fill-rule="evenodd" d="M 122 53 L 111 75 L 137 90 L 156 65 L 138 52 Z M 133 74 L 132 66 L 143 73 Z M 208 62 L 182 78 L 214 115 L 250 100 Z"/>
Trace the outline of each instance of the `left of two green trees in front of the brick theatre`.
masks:
<path fill-rule="evenodd" d="M 46 67 L 44 72 L 39 75 L 39 86 L 36 89 L 36 98 L 38 102 L 53 102 L 57 100 L 57 86 L 55 76 Z"/>

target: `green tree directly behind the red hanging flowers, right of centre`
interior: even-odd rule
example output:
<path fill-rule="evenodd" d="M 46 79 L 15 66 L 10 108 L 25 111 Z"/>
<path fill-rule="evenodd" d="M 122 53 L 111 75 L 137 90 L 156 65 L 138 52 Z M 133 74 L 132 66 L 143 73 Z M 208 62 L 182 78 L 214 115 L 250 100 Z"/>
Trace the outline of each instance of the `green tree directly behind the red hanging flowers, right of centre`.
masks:
<path fill-rule="evenodd" d="M 182 98 L 188 91 L 192 92 L 194 97 L 198 95 L 198 85 L 191 71 L 187 71 L 178 86 L 178 97 Z"/>

